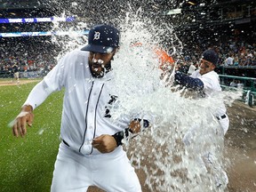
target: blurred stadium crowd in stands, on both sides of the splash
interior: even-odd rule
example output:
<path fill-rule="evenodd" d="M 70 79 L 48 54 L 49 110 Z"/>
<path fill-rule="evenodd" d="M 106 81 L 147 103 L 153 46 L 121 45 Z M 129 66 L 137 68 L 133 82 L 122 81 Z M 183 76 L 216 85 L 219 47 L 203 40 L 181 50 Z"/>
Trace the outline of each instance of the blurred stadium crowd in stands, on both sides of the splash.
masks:
<path fill-rule="evenodd" d="M 191 37 L 191 36 L 190 36 Z M 209 41 L 209 38 L 189 39 L 184 37 L 185 44 L 179 56 L 172 55 L 172 60 L 177 61 L 180 71 L 188 73 L 188 68 L 198 63 L 203 50 L 211 47 L 219 53 L 219 65 L 224 67 L 255 67 L 256 44 L 246 39 L 231 38 Z M 51 37 L 15 37 L 6 38 L 0 46 L 0 72 L 12 72 L 15 64 L 22 71 L 50 71 L 56 65 L 56 58 L 61 48 L 52 44 Z M 188 42 L 190 44 L 188 44 Z"/>

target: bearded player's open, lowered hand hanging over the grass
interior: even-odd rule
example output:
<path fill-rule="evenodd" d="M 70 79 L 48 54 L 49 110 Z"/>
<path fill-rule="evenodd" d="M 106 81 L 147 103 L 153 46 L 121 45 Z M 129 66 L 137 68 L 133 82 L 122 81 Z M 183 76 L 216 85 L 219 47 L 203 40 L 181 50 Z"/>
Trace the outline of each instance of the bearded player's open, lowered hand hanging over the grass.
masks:
<path fill-rule="evenodd" d="M 27 127 L 32 125 L 34 115 L 32 114 L 33 108 L 31 106 L 23 106 L 21 112 L 18 116 L 16 116 L 15 120 L 12 124 L 12 132 L 16 137 L 23 137 L 27 133 Z"/>

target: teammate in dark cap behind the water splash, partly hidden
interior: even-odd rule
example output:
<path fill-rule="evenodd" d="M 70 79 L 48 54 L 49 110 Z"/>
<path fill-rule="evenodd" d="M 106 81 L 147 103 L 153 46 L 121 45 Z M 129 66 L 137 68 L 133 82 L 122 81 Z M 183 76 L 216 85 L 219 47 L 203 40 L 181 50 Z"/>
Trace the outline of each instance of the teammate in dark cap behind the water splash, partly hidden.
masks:
<path fill-rule="evenodd" d="M 218 95 L 221 92 L 220 87 L 220 78 L 218 74 L 214 71 L 218 63 L 218 55 L 213 50 L 206 50 L 203 52 L 202 59 L 200 61 L 200 68 L 192 73 L 191 76 L 182 73 L 175 73 L 175 81 L 178 84 L 182 84 L 189 89 L 194 91 L 198 91 L 204 98 L 212 97 L 214 95 Z M 220 103 L 220 102 L 219 102 Z M 213 115 L 219 120 L 220 127 L 222 128 L 223 136 L 228 131 L 229 119 L 226 114 L 227 109 L 225 108 L 224 103 L 220 103 L 218 109 L 213 111 Z M 188 144 L 192 137 L 192 132 L 195 132 L 195 127 L 191 127 L 189 131 L 185 134 L 183 141 L 185 144 Z M 220 167 L 216 167 L 218 165 L 213 165 L 214 156 L 211 152 L 205 152 L 205 155 L 202 156 L 204 159 L 204 164 L 206 167 L 213 167 L 213 169 L 218 169 L 222 173 L 223 179 L 216 178 L 217 187 L 227 187 L 228 184 L 228 176 L 226 172 L 222 171 Z M 221 174 L 220 173 L 220 174 Z"/>

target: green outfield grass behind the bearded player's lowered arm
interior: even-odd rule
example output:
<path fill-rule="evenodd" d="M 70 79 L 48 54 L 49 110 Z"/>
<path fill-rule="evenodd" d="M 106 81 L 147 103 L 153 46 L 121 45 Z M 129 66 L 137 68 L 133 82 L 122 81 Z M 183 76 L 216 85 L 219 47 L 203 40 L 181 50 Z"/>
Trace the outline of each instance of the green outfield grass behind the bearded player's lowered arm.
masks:
<path fill-rule="evenodd" d="M 24 138 L 12 136 L 8 124 L 36 83 L 0 86 L 0 191 L 50 191 L 60 144 L 63 92 L 54 92 L 34 111 L 35 118 Z"/>

